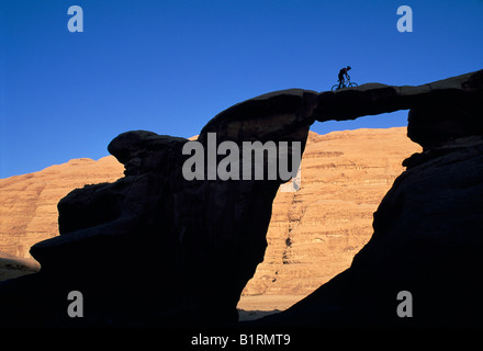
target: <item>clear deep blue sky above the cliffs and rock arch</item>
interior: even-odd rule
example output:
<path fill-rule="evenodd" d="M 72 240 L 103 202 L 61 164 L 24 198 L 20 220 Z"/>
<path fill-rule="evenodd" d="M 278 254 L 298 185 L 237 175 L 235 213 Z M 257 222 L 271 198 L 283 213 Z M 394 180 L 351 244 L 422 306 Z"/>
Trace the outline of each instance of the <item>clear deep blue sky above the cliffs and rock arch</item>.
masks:
<path fill-rule="evenodd" d="M 396 29 L 413 9 L 413 33 Z M 70 33 L 70 5 L 83 33 Z M 288 88 L 420 84 L 483 68 L 482 0 L 0 0 L 0 178 L 99 159 L 117 134 L 190 137 Z M 407 113 L 316 123 L 406 125 Z"/>

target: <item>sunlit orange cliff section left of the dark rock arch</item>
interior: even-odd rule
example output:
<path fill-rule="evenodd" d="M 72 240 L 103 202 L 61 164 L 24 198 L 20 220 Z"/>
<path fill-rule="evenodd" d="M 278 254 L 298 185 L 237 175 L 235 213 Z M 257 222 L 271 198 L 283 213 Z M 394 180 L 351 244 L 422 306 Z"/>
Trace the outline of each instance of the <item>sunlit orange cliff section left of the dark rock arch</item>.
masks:
<path fill-rule="evenodd" d="M 72 189 L 112 182 L 123 166 L 112 156 L 70 160 L 40 172 L 0 179 L 0 251 L 31 258 L 35 242 L 58 235 L 57 203 Z"/>

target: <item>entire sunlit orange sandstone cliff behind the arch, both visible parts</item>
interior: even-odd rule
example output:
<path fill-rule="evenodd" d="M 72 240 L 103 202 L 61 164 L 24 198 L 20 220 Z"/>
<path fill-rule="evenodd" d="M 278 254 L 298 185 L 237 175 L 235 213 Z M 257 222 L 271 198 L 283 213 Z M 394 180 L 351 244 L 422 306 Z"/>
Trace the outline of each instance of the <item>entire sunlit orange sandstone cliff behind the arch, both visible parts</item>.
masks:
<path fill-rule="evenodd" d="M 265 260 L 244 294 L 308 294 L 349 267 L 369 240 L 372 213 L 420 147 L 406 128 L 311 132 L 302 186 L 279 191 Z M 58 235 L 57 203 L 72 189 L 123 176 L 114 157 L 75 159 L 0 180 L 0 251 L 29 258 L 37 241 Z"/>

